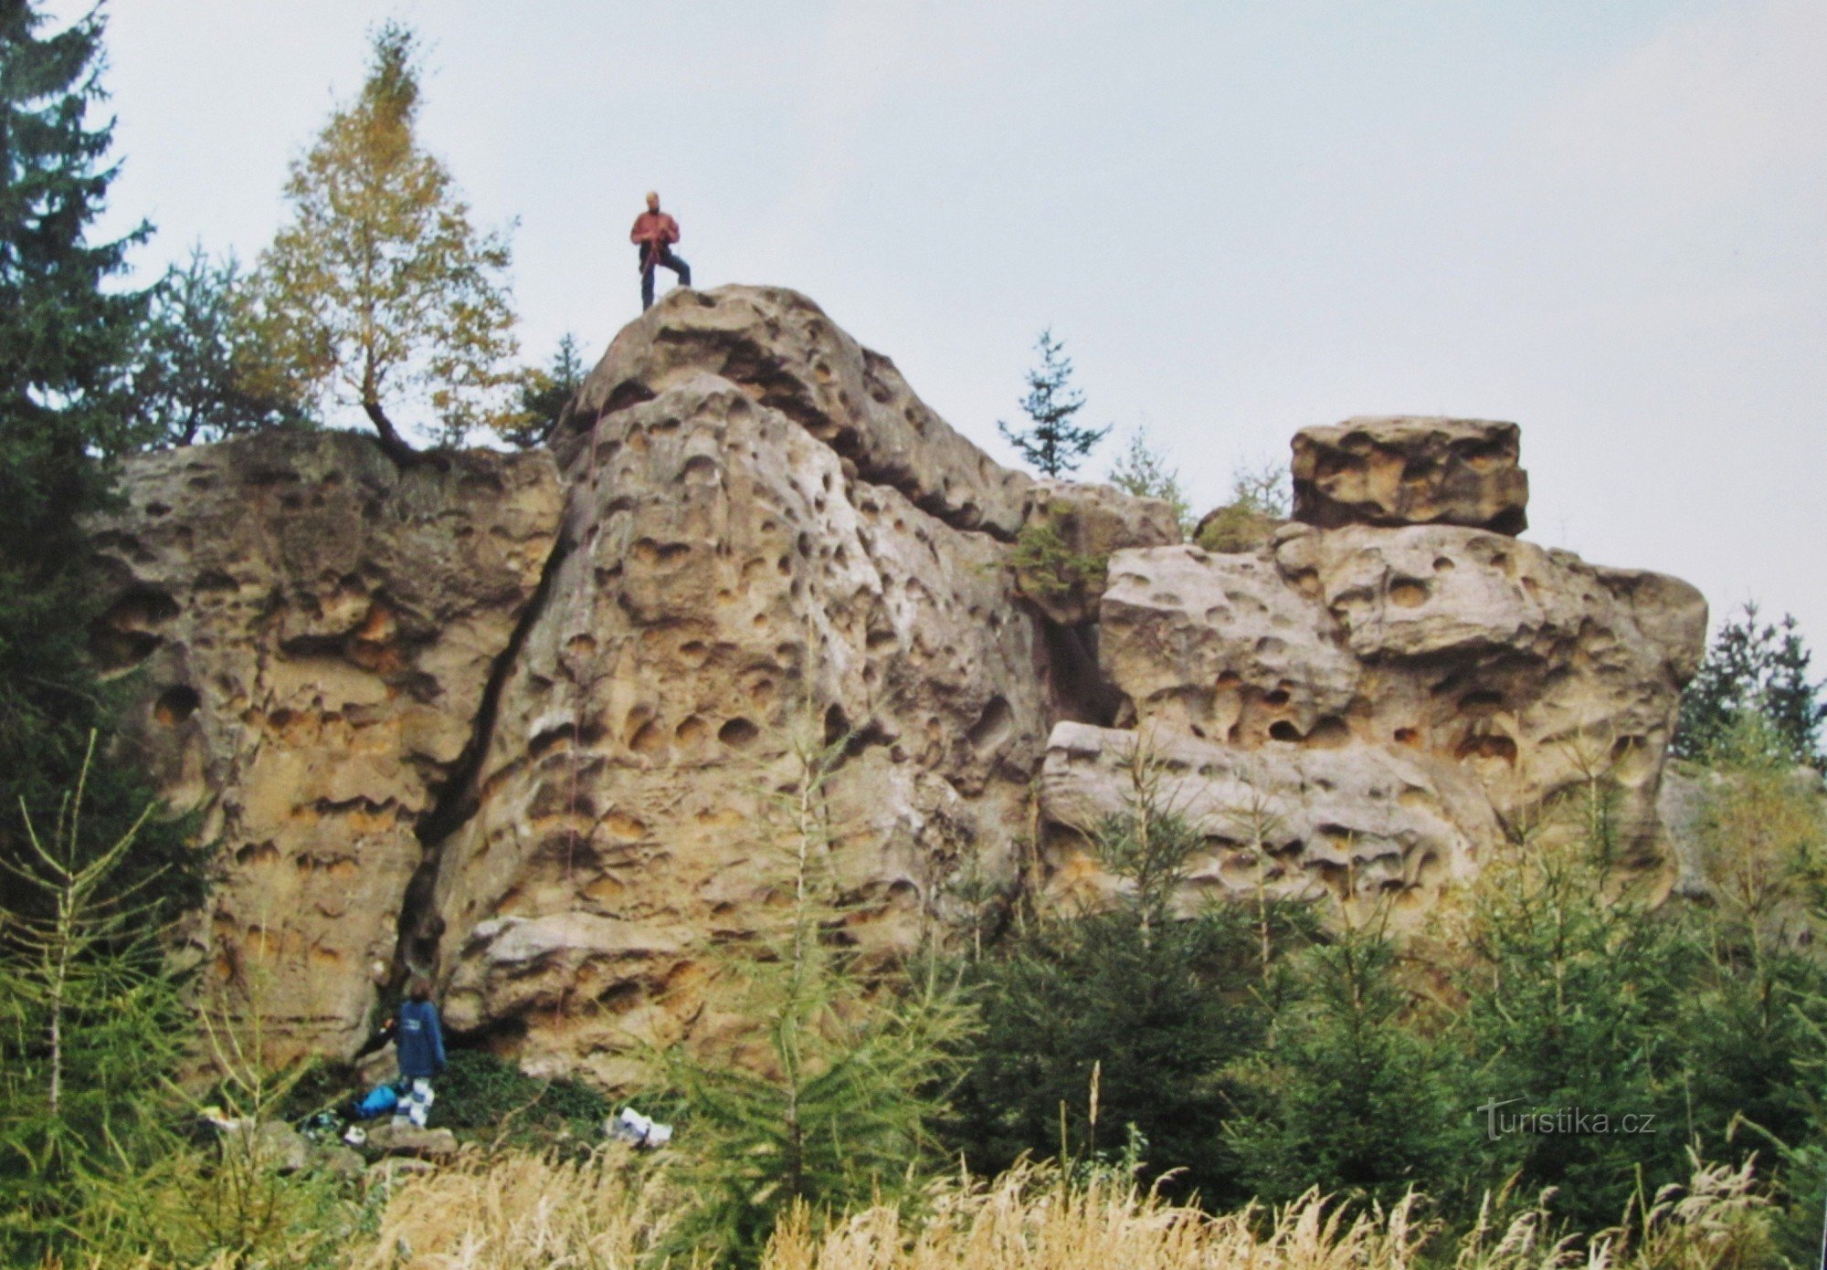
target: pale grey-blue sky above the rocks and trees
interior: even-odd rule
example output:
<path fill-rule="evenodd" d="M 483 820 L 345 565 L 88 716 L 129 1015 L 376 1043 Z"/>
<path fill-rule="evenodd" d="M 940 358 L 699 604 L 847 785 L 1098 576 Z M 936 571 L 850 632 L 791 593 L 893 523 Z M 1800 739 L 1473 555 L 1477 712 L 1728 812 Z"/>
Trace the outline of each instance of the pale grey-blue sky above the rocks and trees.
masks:
<path fill-rule="evenodd" d="M 402 16 L 426 142 L 519 219 L 533 359 L 638 312 L 660 188 L 702 285 L 804 290 L 999 458 L 1049 323 L 1091 422 L 1146 422 L 1200 507 L 1306 423 L 1516 420 L 1527 536 L 1827 644 L 1827 0 L 110 11 L 148 274 L 259 252 Z"/>

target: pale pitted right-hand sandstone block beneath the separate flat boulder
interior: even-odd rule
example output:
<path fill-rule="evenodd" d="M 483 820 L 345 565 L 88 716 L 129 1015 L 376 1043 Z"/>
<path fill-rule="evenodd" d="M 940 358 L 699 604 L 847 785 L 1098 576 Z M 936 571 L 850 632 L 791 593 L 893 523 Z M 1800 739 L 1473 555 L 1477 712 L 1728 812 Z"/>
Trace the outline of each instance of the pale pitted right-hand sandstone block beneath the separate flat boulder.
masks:
<path fill-rule="evenodd" d="M 1624 859 L 1666 856 L 1657 792 L 1706 635 L 1706 602 L 1684 582 L 1482 529 L 1286 526 L 1257 555 L 1116 553 L 1102 619 L 1102 670 L 1151 744 L 1191 737 L 1257 765 L 1246 770 L 1259 779 L 1230 781 L 1233 814 L 1250 796 L 1301 786 L 1275 765 L 1310 755 L 1326 755 L 1334 786 L 1348 770 L 1365 788 L 1390 761 L 1471 781 L 1476 799 L 1462 785 L 1442 801 L 1465 850 L 1376 836 L 1407 841 L 1410 863 L 1379 880 L 1405 903 L 1416 883 L 1463 878 L 1500 825 L 1542 823 L 1595 779 L 1615 797 Z M 1080 803 L 1113 807 L 1109 774 L 1065 761 L 1069 743 L 1054 732 L 1043 785 L 1060 825 Z M 1091 790 L 1074 786 L 1082 772 Z"/>

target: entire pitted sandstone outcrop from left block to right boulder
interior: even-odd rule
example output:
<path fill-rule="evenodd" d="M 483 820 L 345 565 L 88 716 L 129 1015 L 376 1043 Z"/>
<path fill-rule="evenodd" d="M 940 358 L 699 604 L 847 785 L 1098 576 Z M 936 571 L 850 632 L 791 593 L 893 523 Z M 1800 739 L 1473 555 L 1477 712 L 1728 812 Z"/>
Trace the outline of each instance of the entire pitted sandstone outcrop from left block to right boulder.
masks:
<path fill-rule="evenodd" d="M 210 973 L 281 1049 L 351 1053 L 417 967 L 453 1031 L 614 1084 L 630 1036 L 727 1025 L 705 952 L 778 901 L 795 726 L 850 737 L 833 850 L 848 936 L 884 951 L 966 869 L 1107 890 L 1083 830 L 1138 746 L 1206 834 L 1189 900 L 1425 909 L 1593 772 L 1659 859 L 1705 602 L 1516 540 L 1516 453 L 1507 423 L 1310 429 L 1308 524 L 1213 555 L 1164 504 L 999 467 L 802 296 L 676 290 L 550 454 L 398 471 L 274 432 L 132 460 L 97 640 L 221 843 Z M 1107 569 L 1019 577 L 1029 524 Z"/>

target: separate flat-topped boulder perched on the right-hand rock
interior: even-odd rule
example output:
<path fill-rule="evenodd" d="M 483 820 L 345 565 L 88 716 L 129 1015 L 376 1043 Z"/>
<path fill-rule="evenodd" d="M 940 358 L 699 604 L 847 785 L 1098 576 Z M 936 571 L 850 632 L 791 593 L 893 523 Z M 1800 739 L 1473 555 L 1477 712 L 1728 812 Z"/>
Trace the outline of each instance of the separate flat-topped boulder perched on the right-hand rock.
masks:
<path fill-rule="evenodd" d="M 1529 527 L 1520 431 L 1493 420 L 1363 416 L 1294 434 L 1294 518 L 1339 526 Z"/>

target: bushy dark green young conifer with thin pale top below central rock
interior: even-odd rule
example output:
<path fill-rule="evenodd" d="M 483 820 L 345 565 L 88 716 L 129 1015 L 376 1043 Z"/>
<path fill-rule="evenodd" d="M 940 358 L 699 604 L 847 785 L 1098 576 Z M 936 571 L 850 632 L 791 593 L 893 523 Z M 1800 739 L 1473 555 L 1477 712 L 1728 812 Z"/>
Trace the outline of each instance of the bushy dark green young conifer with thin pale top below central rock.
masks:
<path fill-rule="evenodd" d="M 1279 949 L 1310 929 L 1308 914 L 1279 903 L 1178 912 L 1202 841 L 1144 748 L 1129 776 L 1125 812 L 1091 830 L 1124 881 L 1116 901 L 1032 921 L 970 965 L 985 1031 L 954 1098 L 952 1140 L 992 1173 L 1023 1153 L 1105 1157 L 1135 1133 L 1149 1173 L 1175 1170 L 1169 1193 L 1242 1202 L 1224 1140 L 1237 1095 L 1228 1067 L 1268 1022 L 1264 931 Z"/>

